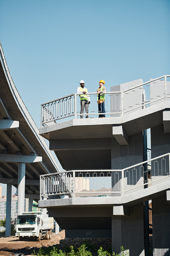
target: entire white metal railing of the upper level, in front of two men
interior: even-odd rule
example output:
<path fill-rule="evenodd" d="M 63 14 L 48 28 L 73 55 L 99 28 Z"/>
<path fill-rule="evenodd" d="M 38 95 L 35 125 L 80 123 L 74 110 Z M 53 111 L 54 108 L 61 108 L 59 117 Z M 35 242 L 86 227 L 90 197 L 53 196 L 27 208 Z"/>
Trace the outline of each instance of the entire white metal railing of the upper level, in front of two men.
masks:
<path fill-rule="evenodd" d="M 105 93 L 106 117 L 121 116 L 144 109 L 162 101 L 170 101 L 170 75 L 160 76 L 146 83 L 142 83 L 124 91 L 111 91 Z M 113 87 L 112 87 L 113 88 Z M 41 127 L 55 124 L 63 118 L 79 118 L 81 93 L 71 94 L 53 101 L 41 104 Z M 88 93 L 88 116 L 98 117 L 98 94 Z"/>

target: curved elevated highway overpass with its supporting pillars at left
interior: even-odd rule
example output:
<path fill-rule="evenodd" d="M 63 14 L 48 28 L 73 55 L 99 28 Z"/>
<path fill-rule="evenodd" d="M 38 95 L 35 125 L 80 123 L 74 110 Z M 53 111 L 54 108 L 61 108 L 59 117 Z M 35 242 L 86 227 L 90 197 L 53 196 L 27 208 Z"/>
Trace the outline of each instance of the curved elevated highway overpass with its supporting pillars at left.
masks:
<path fill-rule="evenodd" d="M 39 175 L 58 172 L 45 140 L 39 136 L 26 105 L 13 82 L 0 43 L 0 182 L 7 184 L 6 235 L 11 225 L 11 186 L 18 189 L 18 214 L 24 198 L 39 199 Z"/>

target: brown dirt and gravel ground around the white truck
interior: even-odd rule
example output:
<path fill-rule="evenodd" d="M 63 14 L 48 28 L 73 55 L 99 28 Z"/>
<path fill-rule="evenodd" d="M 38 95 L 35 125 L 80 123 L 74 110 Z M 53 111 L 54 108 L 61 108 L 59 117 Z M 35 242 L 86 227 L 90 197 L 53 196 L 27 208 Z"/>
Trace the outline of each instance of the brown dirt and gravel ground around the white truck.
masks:
<path fill-rule="evenodd" d="M 97 250 L 100 246 L 104 250 L 111 251 L 112 239 L 111 238 L 65 238 L 65 230 L 60 233 L 52 233 L 51 240 L 24 240 L 19 241 L 17 237 L 0 237 L 0 256 L 22 256 L 32 255 L 33 251 L 37 252 L 41 246 L 49 247 L 55 246 L 58 250 L 65 250 L 69 246 L 73 245 L 75 248 L 80 247 L 82 244 L 88 244 L 90 248 L 93 248 L 92 255 L 97 255 Z M 152 246 L 152 237 L 150 236 L 150 247 Z M 89 250 L 89 248 L 87 248 Z M 35 254 L 36 255 L 36 254 Z"/>

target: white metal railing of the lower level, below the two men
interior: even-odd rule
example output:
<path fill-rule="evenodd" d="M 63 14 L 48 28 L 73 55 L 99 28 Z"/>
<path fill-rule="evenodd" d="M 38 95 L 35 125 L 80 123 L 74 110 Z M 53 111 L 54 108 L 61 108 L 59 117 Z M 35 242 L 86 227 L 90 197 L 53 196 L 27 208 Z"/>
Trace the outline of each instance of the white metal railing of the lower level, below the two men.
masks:
<path fill-rule="evenodd" d="M 63 194 L 73 197 L 123 196 L 134 189 L 164 182 L 169 176 L 169 165 L 170 153 L 122 170 L 73 170 L 40 175 L 40 198 Z"/>

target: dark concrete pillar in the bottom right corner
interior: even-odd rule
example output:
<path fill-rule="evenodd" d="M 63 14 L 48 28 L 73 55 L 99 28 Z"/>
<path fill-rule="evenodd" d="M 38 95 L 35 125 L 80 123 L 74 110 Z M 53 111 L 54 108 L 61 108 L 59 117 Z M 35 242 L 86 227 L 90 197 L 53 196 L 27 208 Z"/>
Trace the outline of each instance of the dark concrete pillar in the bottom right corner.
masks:
<path fill-rule="evenodd" d="M 166 195 L 152 199 L 153 256 L 170 255 L 170 204 Z"/>

